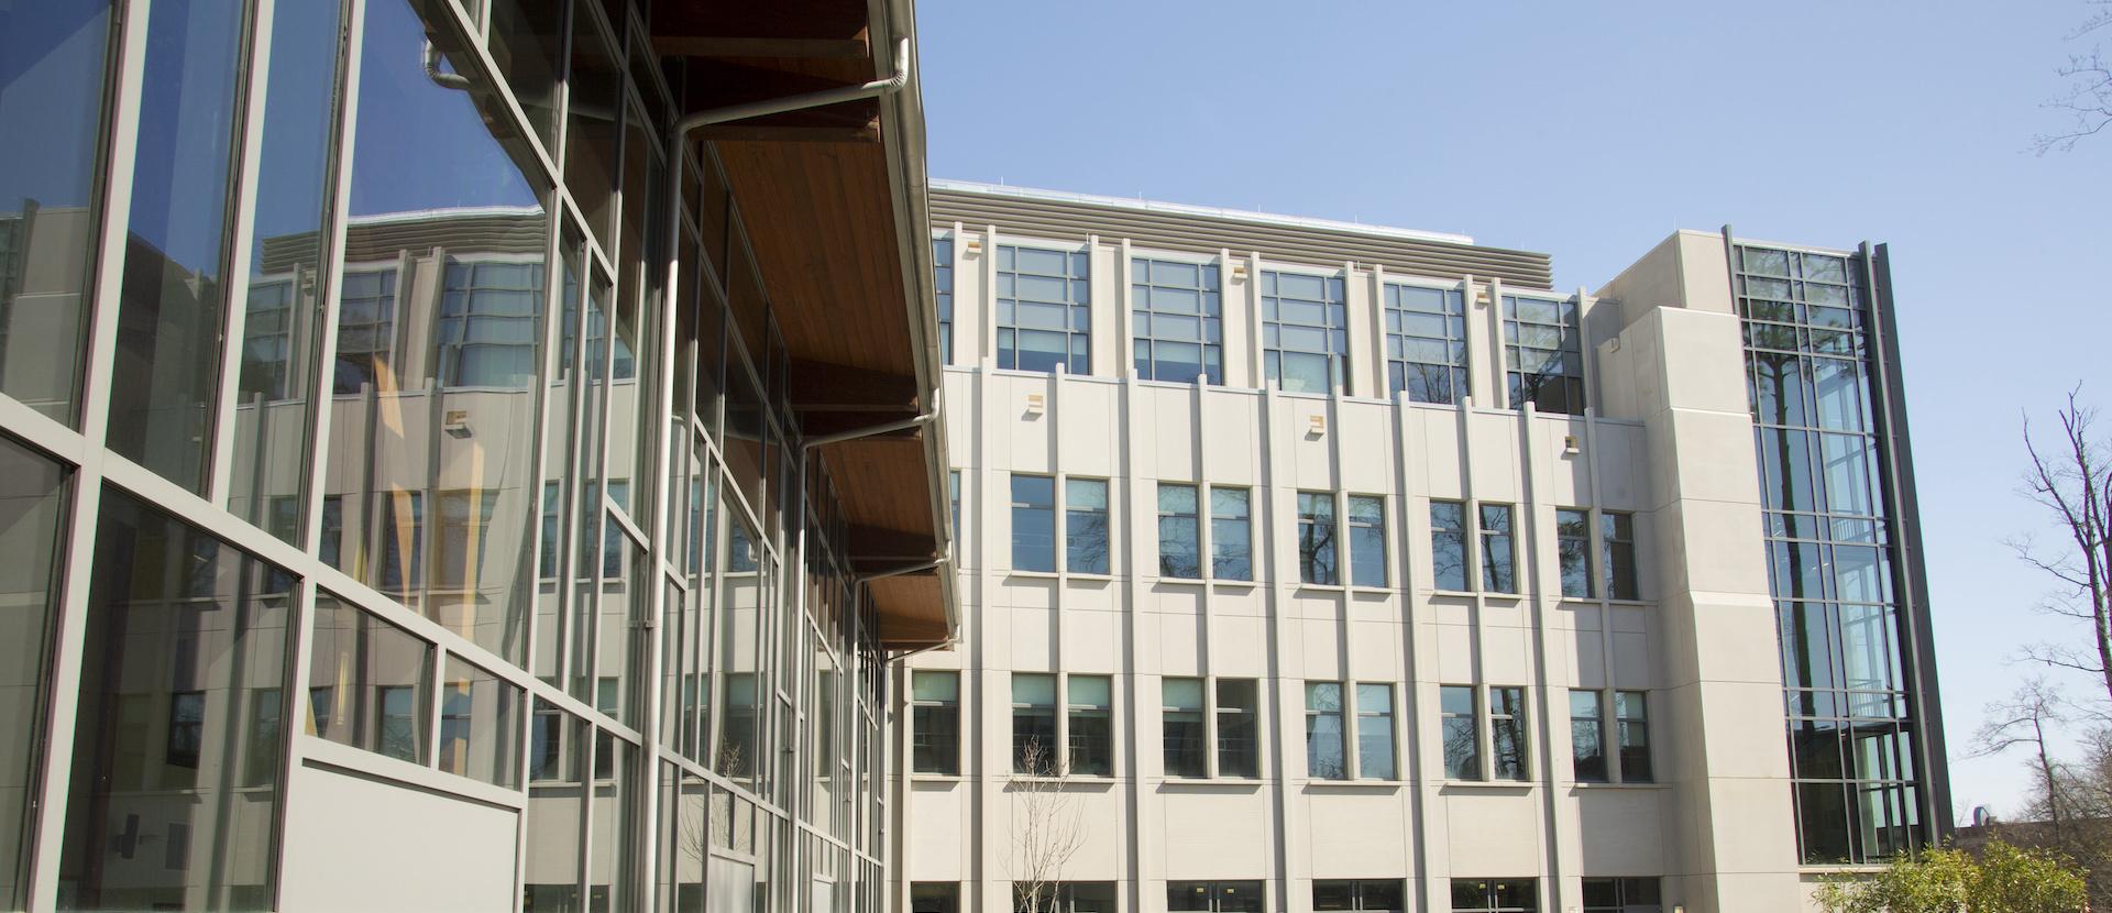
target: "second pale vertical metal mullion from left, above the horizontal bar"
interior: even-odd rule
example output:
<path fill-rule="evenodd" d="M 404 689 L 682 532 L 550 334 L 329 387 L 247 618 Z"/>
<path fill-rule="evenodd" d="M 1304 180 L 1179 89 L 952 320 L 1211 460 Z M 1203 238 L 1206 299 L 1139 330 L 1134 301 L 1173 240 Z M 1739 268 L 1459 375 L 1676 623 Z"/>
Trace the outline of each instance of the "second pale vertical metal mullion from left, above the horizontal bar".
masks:
<path fill-rule="evenodd" d="M 241 89 L 239 118 L 234 123 L 234 150 L 237 159 L 230 163 L 232 199 L 228 213 L 222 216 L 226 230 L 226 249 L 222 249 L 222 330 L 220 330 L 220 389 L 213 397 L 213 442 L 211 454 L 207 459 L 207 501 L 215 505 L 228 503 L 228 484 L 234 473 L 232 452 L 234 452 L 234 406 L 237 389 L 243 376 L 243 328 L 249 319 L 249 235 L 256 230 L 256 197 L 258 197 L 258 171 L 264 159 L 264 95 L 270 89 L 270 27 L 272 27 L 275 0 L 253 0 L 247 15 L 247 34 L 243 36 L 243 53 L 247 63 L 241 68 Z M 296 292 L 300 290 L 300 277 L 296 271 Z M 258 412 L 258 423 L 264 421 L 264 412 Z M 251 490 L 251 499 L 262 497 L 260 490 Z M 258 514 L 251 514 L 258 516 Z"/>

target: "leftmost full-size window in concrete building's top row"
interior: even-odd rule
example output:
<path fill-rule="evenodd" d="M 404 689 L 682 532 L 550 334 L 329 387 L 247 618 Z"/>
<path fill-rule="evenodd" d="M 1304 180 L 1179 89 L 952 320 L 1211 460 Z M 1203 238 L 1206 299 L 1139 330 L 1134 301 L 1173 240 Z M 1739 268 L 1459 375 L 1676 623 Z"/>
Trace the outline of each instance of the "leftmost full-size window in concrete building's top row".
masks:
<path fill-rule="evenodd" d="M 997 247 L 997 366 L 1092 374 L 1086 251 Z"/>

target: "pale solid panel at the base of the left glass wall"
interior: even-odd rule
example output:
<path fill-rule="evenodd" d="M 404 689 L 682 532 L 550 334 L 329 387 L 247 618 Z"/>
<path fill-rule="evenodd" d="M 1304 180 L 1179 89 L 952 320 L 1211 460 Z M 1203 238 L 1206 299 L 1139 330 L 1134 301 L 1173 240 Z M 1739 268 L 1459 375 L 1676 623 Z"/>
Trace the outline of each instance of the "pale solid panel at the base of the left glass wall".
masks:
<path fill-rule="evenodd" d="M 317 767 L 296 769 L 287 795 L 283 909 L 503 911 L 517 900 L 513 809 Z"/>

